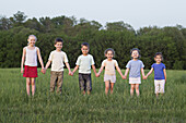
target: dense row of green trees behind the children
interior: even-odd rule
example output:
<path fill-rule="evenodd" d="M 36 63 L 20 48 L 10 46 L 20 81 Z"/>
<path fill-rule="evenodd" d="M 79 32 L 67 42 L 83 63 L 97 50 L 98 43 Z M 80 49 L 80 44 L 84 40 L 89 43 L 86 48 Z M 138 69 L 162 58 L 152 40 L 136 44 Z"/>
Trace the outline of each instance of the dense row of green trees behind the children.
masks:
<path fill-rule="evenodd" d="M 20 67 L 23 47 L 27 36 L 35 35 L 36 46 L 40 48 L 44 63 L 55 49 L 54 40 L 61 37 L 62 50 L 69 58 L 71 67 L 81 54 L 81 44 L 90 44 L 96 67 L 105 59 L 104 50 L 113 48 L 119 66 L 125 69 L 130 58 L 130 49 L 139 48 L 146 69 L 154 63 L 155 52 L 162 52 L 167 69 L 186 70 L 186 28 L 176 26 L 149 26 L 135 30 L 123 21 L 106 23 L 77 20 L 74 16 L 27 19 L 24 12 L 16 12 L 11 17 L 0 16 L 0 67 Z"/>

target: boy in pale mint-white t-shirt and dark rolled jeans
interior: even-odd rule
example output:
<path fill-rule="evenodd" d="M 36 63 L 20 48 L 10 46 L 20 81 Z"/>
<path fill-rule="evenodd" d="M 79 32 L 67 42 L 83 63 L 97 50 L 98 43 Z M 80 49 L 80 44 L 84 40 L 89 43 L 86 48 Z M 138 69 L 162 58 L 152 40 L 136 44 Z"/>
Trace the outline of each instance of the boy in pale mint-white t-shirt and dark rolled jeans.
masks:
<path fill-rule="evenodd" d="M 79 69 L 79 85 L 80 90 L 83 91 L 83 95 L 85 95 L 85 91 L 88 91 L 88 95 L 91 94 L 92 90 L 92 81 L 91 81 L 91 66 L 96 74 L 95 70 L 95 63 L 94 59 L 91 54 L 89 54 L 90 46 L 88 42 L 83 42 L 81 45 L 81 51 L 82 54 L 77 60 L 77 66 L 74 67 L 71 75 L 74 74 L 74 72 Z"/>

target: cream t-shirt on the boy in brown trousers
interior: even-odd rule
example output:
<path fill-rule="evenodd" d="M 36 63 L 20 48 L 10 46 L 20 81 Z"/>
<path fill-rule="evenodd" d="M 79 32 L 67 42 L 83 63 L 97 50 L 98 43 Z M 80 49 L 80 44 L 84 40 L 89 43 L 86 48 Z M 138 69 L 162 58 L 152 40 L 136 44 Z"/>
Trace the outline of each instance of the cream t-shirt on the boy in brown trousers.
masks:
<path fill-rule="evenodd" d="M 60 72 L 63 71 L 63 62 L 68 62 L 66 52 L 63 51 L 51 51 L 49 54 L 49 61 L 51 61 L 51 71 Z"/>

